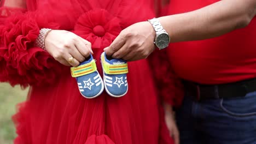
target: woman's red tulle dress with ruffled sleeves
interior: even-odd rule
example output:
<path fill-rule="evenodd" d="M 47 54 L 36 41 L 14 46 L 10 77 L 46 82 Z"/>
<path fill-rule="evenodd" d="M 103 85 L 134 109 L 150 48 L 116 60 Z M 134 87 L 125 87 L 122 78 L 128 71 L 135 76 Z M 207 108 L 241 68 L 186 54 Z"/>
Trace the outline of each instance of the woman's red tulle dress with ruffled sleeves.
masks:
<path fill-rule="evenodd" d="M 165 74 L 167 62 L 159 60 L 157 54 L 151 59 L 152 68 L 146 59 L 129 62 L 129 91 L 124 97 L 112 98 L 103 92 L 95 99 L 85 99 L 69 67 L 34 47 L 40 28 L 65 29 L 92 43 L 96 64 L 100 66 L 103 48 L 122 29 L 155 16 L 153 2 L 14 2 L 16 8 L 0 9 L 0 81 L 12 86 L 31 86 L 27 100 L 19 105 L 19 112 L 14 116 L 18 133 L 14 143 L 173 143 L 164 123 L 156 86 L 170 104 L 177 102 L 172 99 L 176 95 L 175 86 L 172 74 Z M 102 74 L 101 67 L 97 68 Z"/>

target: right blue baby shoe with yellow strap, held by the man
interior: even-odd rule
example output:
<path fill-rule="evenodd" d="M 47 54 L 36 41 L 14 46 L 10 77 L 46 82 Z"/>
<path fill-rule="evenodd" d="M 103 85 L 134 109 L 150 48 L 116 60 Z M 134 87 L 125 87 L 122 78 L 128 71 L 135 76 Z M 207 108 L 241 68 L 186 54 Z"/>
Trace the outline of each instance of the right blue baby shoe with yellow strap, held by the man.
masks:
<path fill-rule="evenodd" d="M 122 97 L 128 91 L 128 65 L 123 59 L 107 59 L 106 53 L 101 54 L 103 80 L 106 92 L 112 97 Z"/>

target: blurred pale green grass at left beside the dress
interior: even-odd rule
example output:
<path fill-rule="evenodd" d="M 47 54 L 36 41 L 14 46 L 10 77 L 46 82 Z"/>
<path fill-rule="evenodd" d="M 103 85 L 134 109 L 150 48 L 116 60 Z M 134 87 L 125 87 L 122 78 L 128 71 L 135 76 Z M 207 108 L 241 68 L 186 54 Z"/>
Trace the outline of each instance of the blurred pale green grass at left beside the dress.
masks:
<path fill-rule="evenodd" d="M 28 89 L 19 86 L 11 87 L 8 83 L 0 83 L 0 143 L 13 143 L 15 127 L 11 116 L 16 113 L 16 104 L 26 100 Z"/>

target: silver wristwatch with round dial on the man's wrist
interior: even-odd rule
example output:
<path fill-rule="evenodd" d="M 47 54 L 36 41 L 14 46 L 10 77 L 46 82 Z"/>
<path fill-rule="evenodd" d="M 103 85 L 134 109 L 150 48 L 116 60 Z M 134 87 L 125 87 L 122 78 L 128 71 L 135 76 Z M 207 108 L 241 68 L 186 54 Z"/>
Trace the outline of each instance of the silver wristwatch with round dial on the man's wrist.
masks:
<path fill-rule="evenodd" d="M 170 37 L 169 34 L 165 31 L 165 29 L 162 27 L 160 21 L 156 18 L 148 21 L 154 27 L 156 32 L 156 37 L 154 40 L 154 44 L 156 45 L 156 47 L 158 47 L 160 50 L 168 47 L 170 43 Z"/>

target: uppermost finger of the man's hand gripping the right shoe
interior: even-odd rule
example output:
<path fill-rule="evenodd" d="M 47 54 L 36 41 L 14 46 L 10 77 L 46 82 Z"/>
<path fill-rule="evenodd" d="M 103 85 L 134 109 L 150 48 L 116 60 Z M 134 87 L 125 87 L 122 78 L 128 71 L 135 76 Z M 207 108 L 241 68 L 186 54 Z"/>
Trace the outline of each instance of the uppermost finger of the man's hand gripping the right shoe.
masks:
<path fill-rule="evenodd" d="M 125 38 L 123 34 L 119 34 L 117 38 L 113 41 L 113 43 L 106 49 L 106 55 L 107 56 L 112 56 L 113 53 L 117 52 L 123 45 L 125 44 Z"/>

